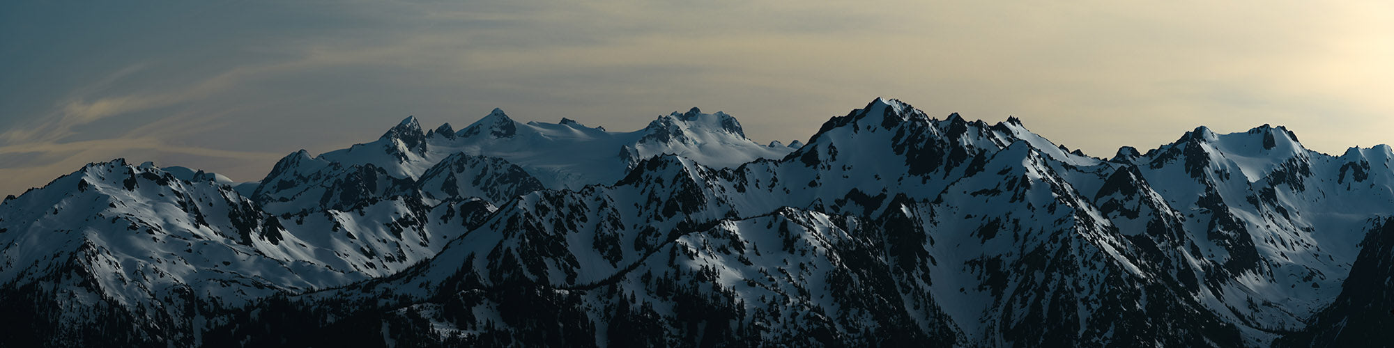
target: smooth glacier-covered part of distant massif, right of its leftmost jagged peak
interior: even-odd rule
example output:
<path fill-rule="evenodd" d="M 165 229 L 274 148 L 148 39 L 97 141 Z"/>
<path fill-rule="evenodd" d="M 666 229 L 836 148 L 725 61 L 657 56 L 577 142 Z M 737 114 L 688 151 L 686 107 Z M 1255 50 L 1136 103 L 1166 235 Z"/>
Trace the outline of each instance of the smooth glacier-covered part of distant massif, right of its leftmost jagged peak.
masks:
<path fill-rule="evenodd" d="M 659 116 L 633 132 L 612 132 L 562 118 L 556 124 L 519 122 L 493 113 L 453 136 L 436 131 L 432 145 L 517 163 L 544 185 L 579 189 L 611 184 L 643 159 L 672 153 L 710 167 L 735 167 L 756 159 L 783 157 L 789 146 L 761 146 L 746 138 L 740 122 L 725 113 Z"/>

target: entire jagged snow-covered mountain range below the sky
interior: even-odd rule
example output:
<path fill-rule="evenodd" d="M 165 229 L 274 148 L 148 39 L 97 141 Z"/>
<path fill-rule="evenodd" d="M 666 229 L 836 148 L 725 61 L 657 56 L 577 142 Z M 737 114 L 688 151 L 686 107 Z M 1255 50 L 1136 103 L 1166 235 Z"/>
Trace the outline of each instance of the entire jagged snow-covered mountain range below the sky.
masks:
<path fill-rule="evenodd" d="M 0 347 L 1381 345 L 1391 164 L 1270 125 L 1098 159 L 892 99 L 789 145 L 407 117 L 255 182 L 6 198 Z"/>

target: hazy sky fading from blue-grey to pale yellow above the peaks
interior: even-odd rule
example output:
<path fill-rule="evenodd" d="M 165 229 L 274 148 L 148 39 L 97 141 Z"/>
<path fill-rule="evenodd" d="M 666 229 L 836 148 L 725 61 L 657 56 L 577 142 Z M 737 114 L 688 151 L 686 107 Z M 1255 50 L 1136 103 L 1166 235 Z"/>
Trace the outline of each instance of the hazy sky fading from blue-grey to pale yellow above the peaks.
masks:
<path fill-rule="evenodd" d="M 1394 1 L 4 1 L 0 195 L 92 161 L 261 180 L 500 107 L 807 141 L 884 96 L 1110 157 L 1207 125 L 1394 142 Z"/>

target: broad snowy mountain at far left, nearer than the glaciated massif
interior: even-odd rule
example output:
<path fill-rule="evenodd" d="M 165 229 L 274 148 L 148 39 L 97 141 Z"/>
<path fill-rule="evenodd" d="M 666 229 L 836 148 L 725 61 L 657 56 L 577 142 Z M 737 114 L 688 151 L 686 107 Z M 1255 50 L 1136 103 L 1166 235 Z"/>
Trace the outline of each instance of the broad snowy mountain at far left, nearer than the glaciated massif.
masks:
<path fill-rule="evenodd" d="M 390 274 L 492 209 L 393 199 L 272 216 L 215 180 L 93 163 L 0 205 L 0 302 L 46 344 L 198 344 L 204 313 Z M 100 327 L 124 334 L 85 331 Z"/>

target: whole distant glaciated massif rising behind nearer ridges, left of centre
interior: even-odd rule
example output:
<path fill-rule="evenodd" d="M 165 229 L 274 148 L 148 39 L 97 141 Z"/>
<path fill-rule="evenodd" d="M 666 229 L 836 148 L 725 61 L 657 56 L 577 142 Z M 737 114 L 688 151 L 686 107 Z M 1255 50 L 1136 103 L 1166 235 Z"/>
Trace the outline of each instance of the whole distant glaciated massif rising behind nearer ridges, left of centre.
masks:
<path fill-rule="evenodd" d="M 758 145 L 746 138 L 736 118 L 719 111 L 704 114 L 696 107 L 659 116 L 633 132 L 591 128 L 569 118 L 556 124 L 519 122 L 495 109 L 459 132 L 450 124 L 422 132 L 417 120 L 407 117 L 375 142 L 314 157 L 305 152 L 291 153 L 262 180 L 256 198 L 270 202 L 279 198 L 282 185 L 301 187 L 282 182 L 332 182 L 344 175 L 342 168 L 351 167 L 372 166 L 386 181 L 415 181 L 459 153 L 517 164 L 546 188 L 579 189 L 615 182 L 634 163 L 657 155 L 672 153 L 705 166 L 733 167 L 756 159 L 778 159 L 790 150 L 793 148 Z M 325 173 L 333 164 L 337 167 Z M 263 196 L 266 193 L 270 196 Z"/>

